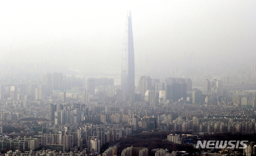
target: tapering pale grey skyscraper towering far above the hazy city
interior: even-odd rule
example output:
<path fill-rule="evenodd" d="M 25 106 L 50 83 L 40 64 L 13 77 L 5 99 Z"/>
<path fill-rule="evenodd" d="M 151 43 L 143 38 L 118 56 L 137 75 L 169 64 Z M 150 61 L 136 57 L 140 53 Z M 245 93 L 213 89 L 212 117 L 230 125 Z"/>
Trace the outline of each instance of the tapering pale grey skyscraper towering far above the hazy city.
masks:
<path fill-rule="evenodd" d="M 121 89 L 122 100 L 125 101 L 129 97 L 134 101 L 134 85 L 135 85 L 135 69 L 134 69 L 134 47 L 132 36 L 132 16 L 131 11 L 127 12 L 125 30 L 124 30 L 124 46 L 122 54 L 122 70 L 121 70 Z"/>

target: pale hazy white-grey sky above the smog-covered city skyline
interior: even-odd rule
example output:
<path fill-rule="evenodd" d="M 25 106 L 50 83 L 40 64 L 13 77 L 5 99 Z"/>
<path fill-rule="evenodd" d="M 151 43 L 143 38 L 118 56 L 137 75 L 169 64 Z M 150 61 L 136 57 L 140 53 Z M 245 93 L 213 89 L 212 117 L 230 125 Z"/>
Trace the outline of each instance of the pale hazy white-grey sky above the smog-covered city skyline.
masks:
<path fill-rule="evenodd" d="M 0 61 L 119 71 L 127 10 L 135 72 L 169 69 L 184 52 L 198 62 L 256 60 L 255 0 L 85 0 L 2 1 Z"/>

